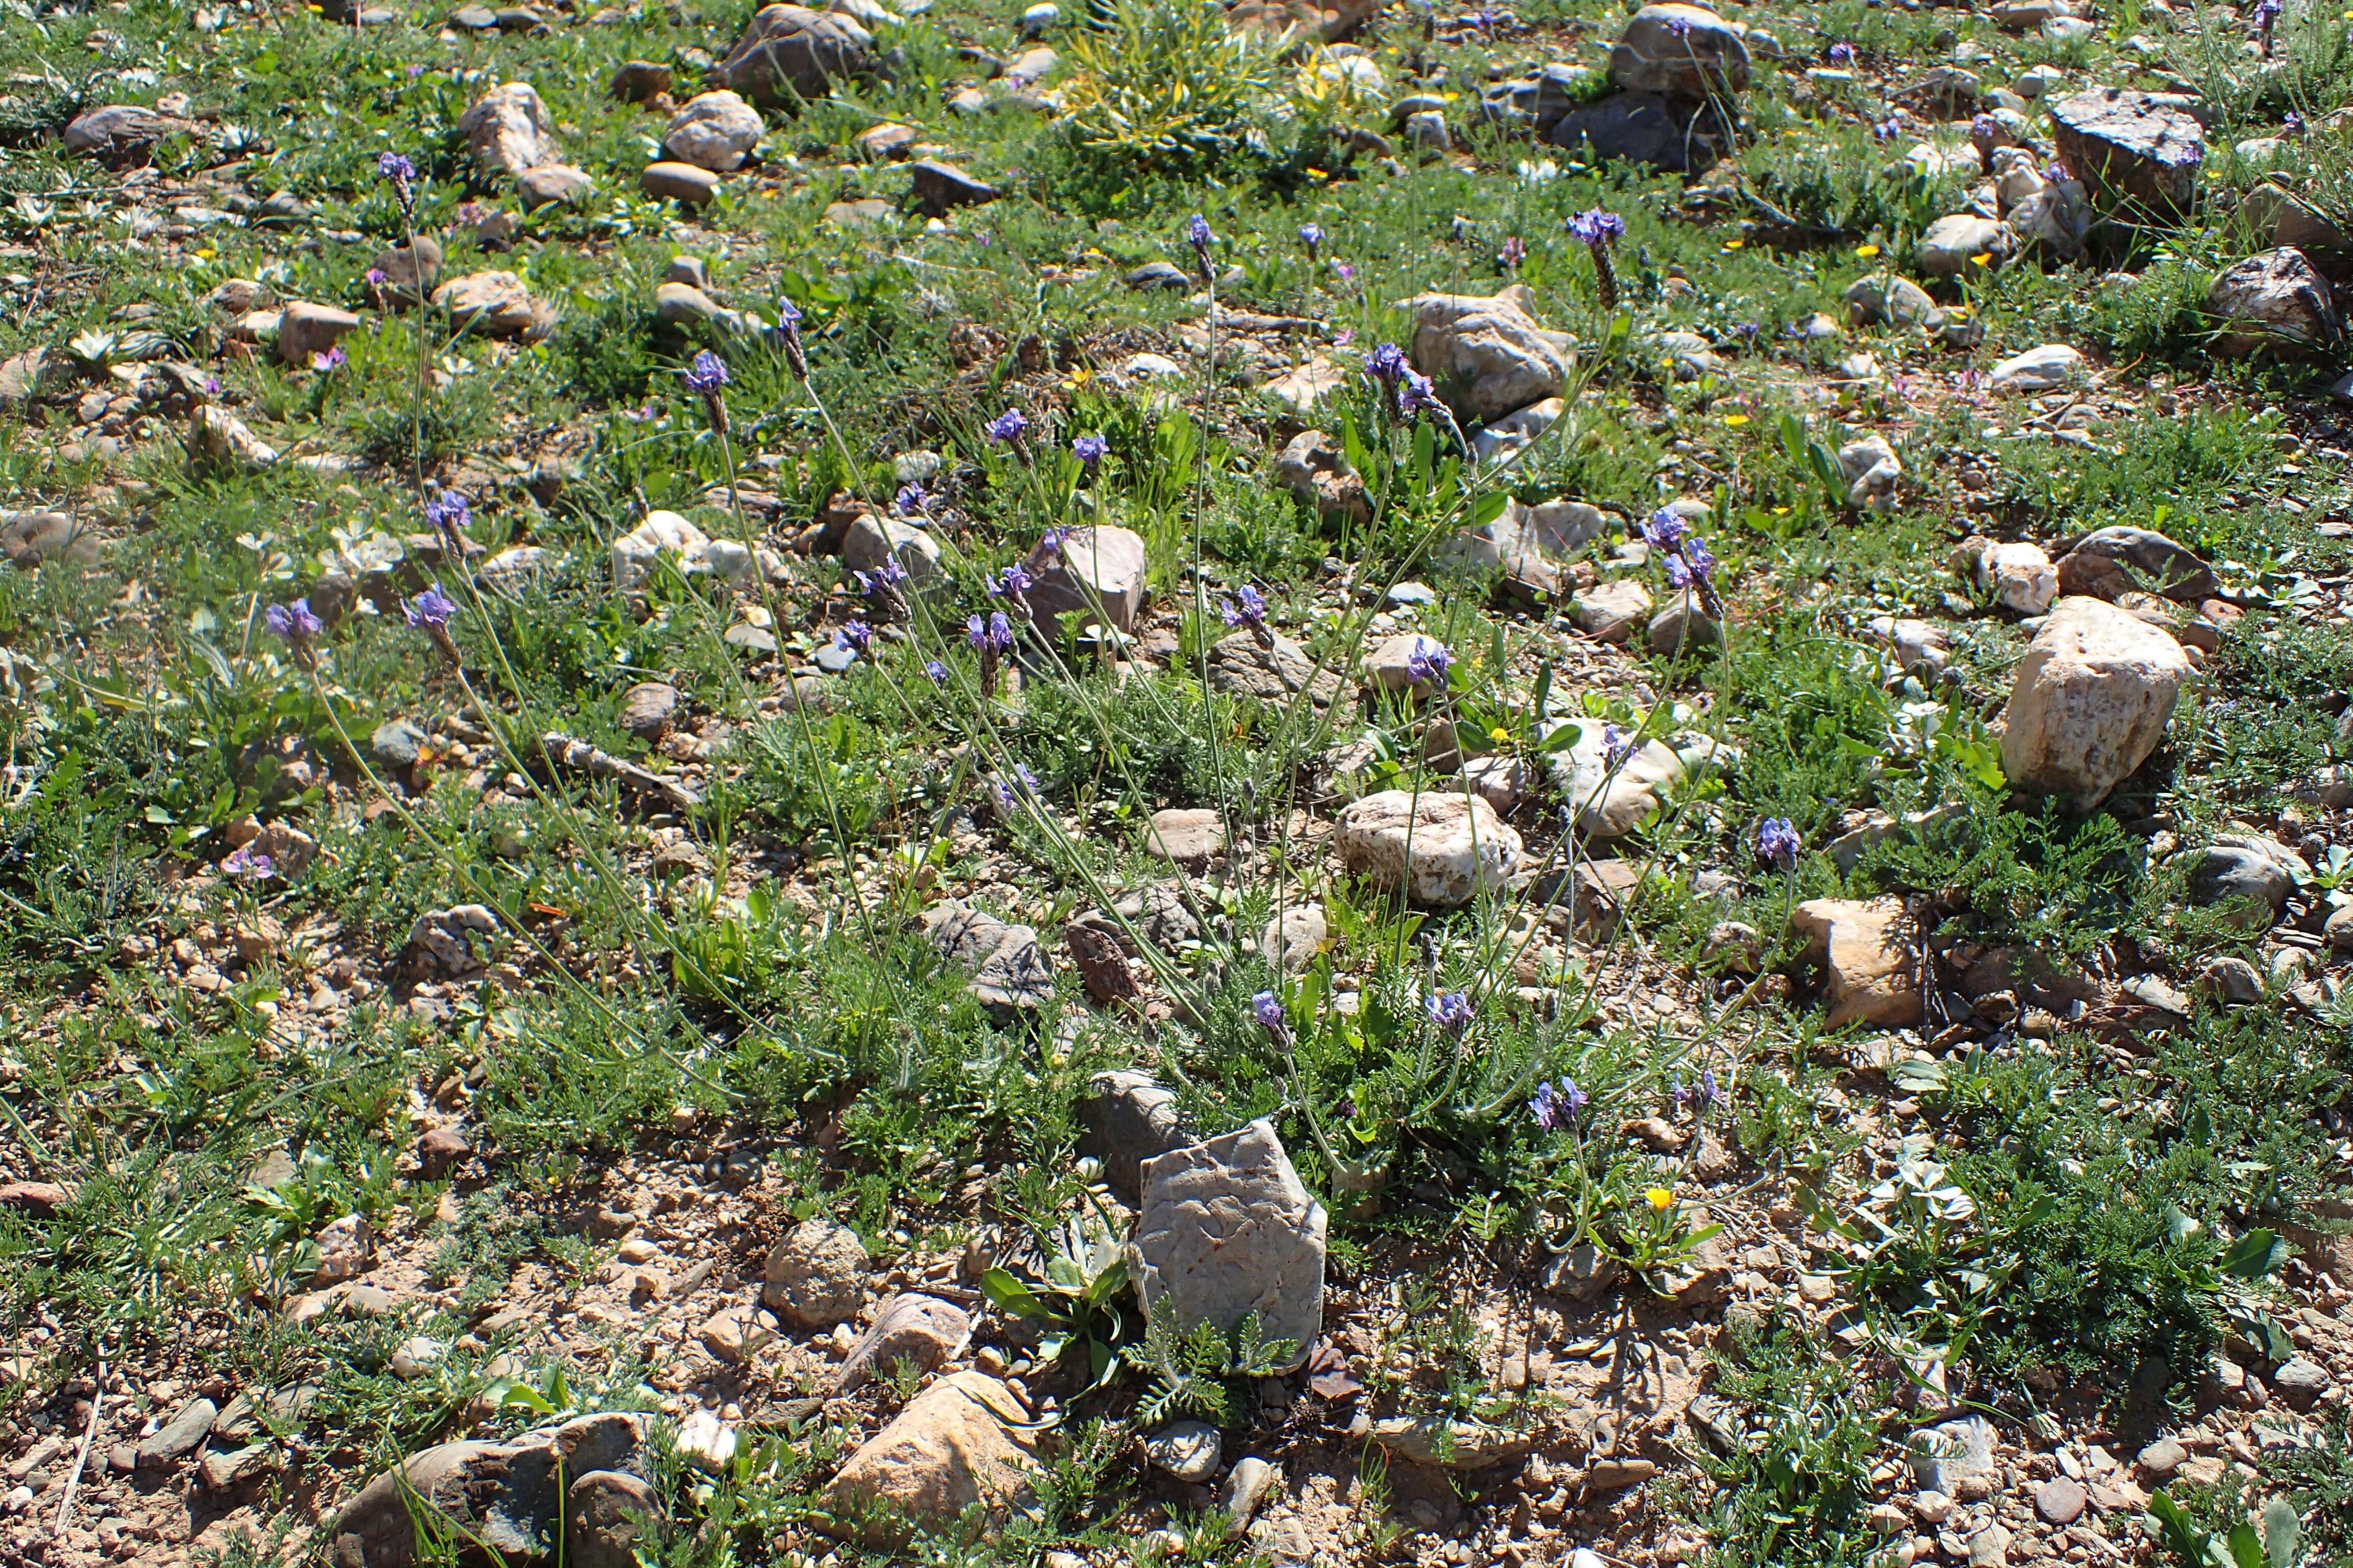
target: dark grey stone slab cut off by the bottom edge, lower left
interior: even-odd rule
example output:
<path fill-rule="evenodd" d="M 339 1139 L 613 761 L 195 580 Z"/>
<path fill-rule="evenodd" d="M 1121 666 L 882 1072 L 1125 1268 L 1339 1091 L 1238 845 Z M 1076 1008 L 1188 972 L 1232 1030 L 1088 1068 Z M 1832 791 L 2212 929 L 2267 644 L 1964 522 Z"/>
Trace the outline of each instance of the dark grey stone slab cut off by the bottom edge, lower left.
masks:
<path fill-rule="evenodd" d="M 454 1523 L 464 1537 L 508 1559 L 555 1549 L 565 1507 L 560 1483 L 591 1472 L 642 1469 L 645 1418 L 621 1410 L 576 1415 L 511 1443 L 454 1441 L 409 1455 L 344 1505 L 327 1530 L 336 1568 L 412 1568 L 424 1542 L 414 1505 Z M 438 1530 L 445 1535 L 447 1526 Z"/>

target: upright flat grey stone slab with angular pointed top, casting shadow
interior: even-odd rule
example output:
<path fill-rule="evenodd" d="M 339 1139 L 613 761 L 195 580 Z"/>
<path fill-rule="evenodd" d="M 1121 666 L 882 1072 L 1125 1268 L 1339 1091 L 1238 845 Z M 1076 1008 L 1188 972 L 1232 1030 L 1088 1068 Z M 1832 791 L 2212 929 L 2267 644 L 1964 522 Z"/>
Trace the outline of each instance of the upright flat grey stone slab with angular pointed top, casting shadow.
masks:
<path fill-rule="evenodd" d="M 1144 1204 L 1129 1269 L 1151 1321 L 1231 1333 L 1249 1314 L 1287 1340 L 1282 1373 L 1306 1366 L 1322 1333 L 1322 1204 L 1299 1182 L 1271 1121 L 1141 1164 Z"/>

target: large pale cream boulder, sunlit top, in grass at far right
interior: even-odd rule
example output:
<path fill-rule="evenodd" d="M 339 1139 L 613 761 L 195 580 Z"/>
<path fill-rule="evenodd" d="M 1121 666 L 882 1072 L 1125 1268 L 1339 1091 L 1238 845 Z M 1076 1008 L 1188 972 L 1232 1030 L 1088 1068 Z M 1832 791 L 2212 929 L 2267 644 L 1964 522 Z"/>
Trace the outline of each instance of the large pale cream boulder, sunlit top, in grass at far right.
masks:
<path fill-rule="evenodd" d="M 2188 672 L 2181 644 L 2139 616 L 2104 599 L 2059 599 L 2002 710 L 2012 788 L 2097 806 L 2158 750 Z"/>

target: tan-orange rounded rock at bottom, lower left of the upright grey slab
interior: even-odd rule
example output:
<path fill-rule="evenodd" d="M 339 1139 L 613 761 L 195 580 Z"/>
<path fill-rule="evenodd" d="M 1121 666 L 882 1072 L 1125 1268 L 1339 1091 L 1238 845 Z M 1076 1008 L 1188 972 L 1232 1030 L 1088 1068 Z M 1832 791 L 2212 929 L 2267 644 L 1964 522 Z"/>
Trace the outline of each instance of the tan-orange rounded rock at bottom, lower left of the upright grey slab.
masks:
<path fill-rule="evenodd" d="M 911 1523 L 951 1523 L 969 1507 L 998 1512 L 1038 1465 L 1028 1422 L 1028 1406 L 995 1378 L 944 1378 L 849 1455 L 826 1505 L 868 1544 L 899 1542 Z"/>

